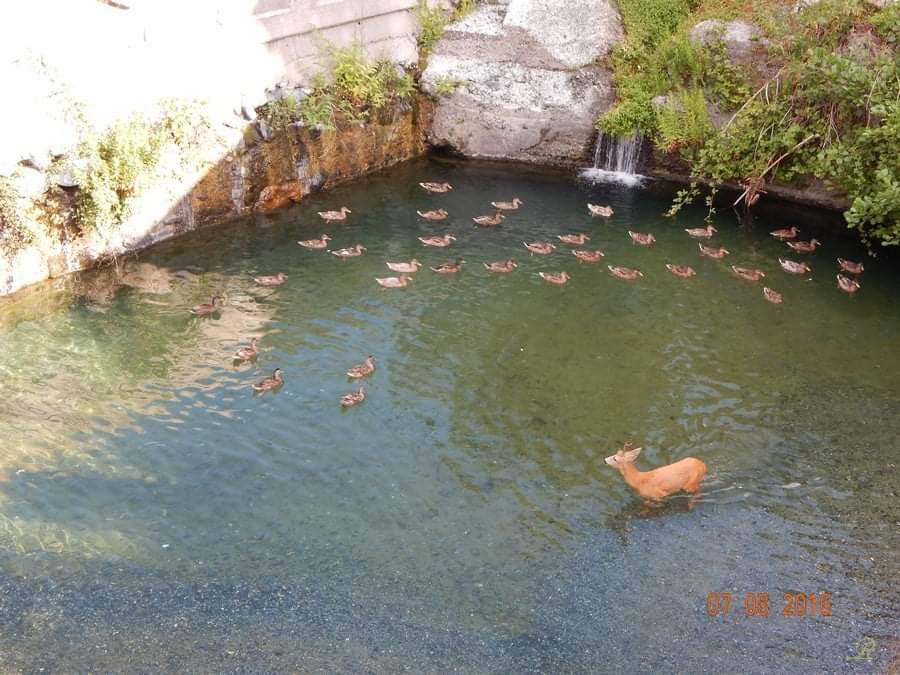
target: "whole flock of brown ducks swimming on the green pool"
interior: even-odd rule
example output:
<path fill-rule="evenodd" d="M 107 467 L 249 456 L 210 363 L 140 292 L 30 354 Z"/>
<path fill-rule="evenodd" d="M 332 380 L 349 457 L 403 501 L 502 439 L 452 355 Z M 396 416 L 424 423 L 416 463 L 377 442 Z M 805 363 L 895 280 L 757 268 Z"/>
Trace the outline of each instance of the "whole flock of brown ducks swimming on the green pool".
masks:
<path fill-rule="evenodd" d="M 425 182 L 419 183 L 419 186 L 427 192 L 433 194 L 443 194 L 453 189 L 453 186 L 450 185 L 450 183 L 446 182 Z M 516 211 L 523 204 L 524 202 L 518 197 L 515 197 L 511 201 L 506 202 L 491 202 L 491 206 L 495 209 L 495 212 L 492 215 L 489 214 L 476 216 L 472 220 L 478 227 L 496 227 L 500 225 L 506 218 L 506 214 L 504 212 Z M 610 218 L 613 215 L 613 209 L 610 206 L 588 204 L 587 208 L 588 212 L 592 216 Z M 353 211 L 351 211 L 346 206 L 343 206 L 340 210 L 337 211 L 319 211 L 318 215 L 326 223 L 338 223 L 345 221 L 347 219 L 347 215 L 352 213 Z M 423 220 L 427 220 L 430 222 L 440 222 L 446 220 L 449 216 L 449 213 L 446 211 L 446 209 L 442 208 L 430 211 L 416 211 L 416 213 Z M 714 234 L 716 234 L 717 230 L 712 224 L 709 224 L 706 227 L 685 228 L 685 232 L 688 234 L 688 236 L 694 239 L 709 240 L 713 237 Z M 778 239 L 779 241 L 784 242 L 791 250 L 796 253 L 813 253 L 815 252 L 816 248 L 821 245 L 821 242 L 819 242 L 817 239 L 810 239 L 809 241 L 795 241 L 799 233 L 800 230 L 794 226 L 770 232 L 771 236 L 773 236 L 775 239 Z M 631 230 L 629 230 L 628 236 L 631 238 L 632 243 L 636 246 L 649 247 L 656 242 L 656 237 L 651 233 L 632 232 Z M 454 241 L 456 241 L 456 237 L 454 237 L 452 234 L 429 235 L 418 237 L 418 239 L 424 246 L 428 246 L 431 248 L 446 248 L 450 246 Z M 590 236 L 582 232 L 578 234 L 560 234 L 557 235 L 557 239 L 561 244 L 567 246 L 585 246 L 591 238 Z M 318 239 L 306 239 L 303 241 L 298 241 L 297 243 L 303 248 L 309 250 L 322 251 L 328 249 L 329 241 L 331 241 L 331 237 L 327 234 L 322 234 Z M 557 246 L 556 244 L 549 241 L 526 241 L 522 243 L 532 255 L 549 255 L 556 250 Z M 710 246 L 704 244 L 702 241 L 698 242 L 698 247 L 701 257 L 713 258 L 714 260 L 722 260 L 723 258 L 725 258 L 725 256 L 730 254 L 730 251 L 725 248 Z M 336 250 L 330 250 L 328 252 L 340 258 L 341 260 L 347 260 L 348 258 L 356 258 L 361 256 L 366 250 L 366 247 L 362 244 L 355 244 L 354 246 L 350 246 L 348 248 L 340 248 Z M 600 262 L 601 258 L 604 257 L 604 253 L 600 249 L 591 250 L 586 248 L 576 248 L 572 250 L 572 254 L 578 259 L 579 262 L 583 263 L 598 263 Z M 431 270 L 437 274 L 456 274 L 462 270 L 462 266 L 465 262 L 466 261 L 462 258 L 457 258 L 454 262 L 446 262 L 431 267 Z M 851 260 L 846 260 L 844 258 L 838 258 L 837 262 L 840 268 L 840 271 L 837 274 L 838 288 L 847 293 L 856 293 L 860 289 L 859 282 L 854 278 L 846 276 L 846 274 L 862 274 L 862 272 L 864 271 L 863 264 L 853 262 Z M 778 263 L 781 265 L 781 268 L 788 274 L 804 275 L 811 270 L 810 266 L 805 262 L 797 262 L 794 260 L 778 258 Z M 396 272 L 397 276 L 376 277 L 375 281 L 383 288 L 405 288 L 412 281 L 413 275 L 422 268 L 422 263 L 415 258 L 404 262 L 387 262 L 386 265 L 389 270 L 391 270 L 392 272 Z M 484 263 L 484 268 L 488 272 L 492 272 L 495 274 L 509 274 L 510 272 L 513 272 L 517 267 L 518 264 L 515 260 L 512 259 L 497 260 Z M 622 265 L 607 265 L 607 269 L 614 277 L 623 279 L 625 281 L 634 281 L 644 276 L 641 270 L 636 268 L 624 267 Z M 691 277 L 697 275 L 696 270 L 694 270 L 694 268 L 690 265 L 666 264 L 666 269 L 668 269 L 669 272 L 681 279 L 690 279 Z M 731 270 L 737 278 L 744 281 L 758 282 L 764 279 L 766 276 L 762 270 L 749 267 L 737 267 L 735 265 L 732 265 Z M 568 272 L 538 272 L 538 276 L 547 283 L 557 286 L 568 283 L 572 278 Z M 279 272 L 278 274 L 271 276 L 255 277 L 254 281 L 260 286 L 278 286 L 284 283 L 286 279 L 287 275 L 285 275 L 283 272 Z M 768 302 L 776 305 L 779 305 L 784 301 L 784 298 L 780 293 L 772 290 L 768 286 L 763 287 L 763 298 Z M 219 312 L 223 307 L 223 304 L 223 298 L 221 296 L 215 296 L 208 303 L 195 305 L 191 308 L 190 312 L 196 316 L 207 316 Z M 241 347 L 234 353 L 233 359 L 238 363 L 249 362 L 255 360 L 258 354 L 259 339 L 254 337 L 250 340 L 249 345 Z M 371 375 L 373 372 L 375 372 L 375 357 L 369 356 L 362 363 L 359 363 L 350 368 L 347 371 L 347 377 L 349 377 L 351 380 L 359 380 L 367 377 L 368 375 Z M 281 368 L 276 368 L 269 377 L 265 377 L 262 380 L 254 383 L 252 387 L 257 393 L 264 393 L 266 391 L 278 389 L 283 384 L 284 372 L 281 370 Z M 356 391 L 352 391 L 341 397 L 341 406 L 344 408 L 349 408 L 362 403 L 365 398 L 365 391 L 363 390 L 363 387 L 360 386 Z"/>

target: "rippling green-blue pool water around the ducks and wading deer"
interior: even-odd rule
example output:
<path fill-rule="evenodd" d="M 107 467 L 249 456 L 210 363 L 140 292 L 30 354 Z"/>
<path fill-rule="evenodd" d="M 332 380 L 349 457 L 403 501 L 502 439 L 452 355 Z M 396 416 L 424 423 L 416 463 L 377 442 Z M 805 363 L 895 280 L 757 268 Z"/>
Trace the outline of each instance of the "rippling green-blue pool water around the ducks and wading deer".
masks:
<path fill-rule="evenodd" d="M 428 195 L 420 180 L 455 189 Z M 422 160 L 0 303 L 4 670 L 871 672 L 900 654 L 900 274 L 782 207 L 700 258 L 671 190 Z M 470 218 L 525 205 L 495 230 Z M 609 220 L 586 202 L 608 203 Z M 346 224 L 315 216 L 347 205 Z M 445 223 L 416 209 L 444 207 Z M 800 218 L 800 220 L 797 220 Z M 792 277 L 767 235 L 824 246 Z M 653 232 L 651 249 L 627 230 Z M 588 232 L 602 265 L 521 242 Z M 342 262 L 298 239 L 357 242 Z M 417 236 L 451 232 L 448 249 Z M 790 253 L 790 252 L 788 252 Z M 466 259 L 383 290 L 387 260 Z M 513 257 L 491 275 L 481 263 Z M 611 277 L 605 264 L 639 267 Z M 690 264 L 689 281 L 665 263 Z M 759 267 L 762 284 L 729 264 Z M 567 270 L 565 287 L 538 271 Z M 253 283 L 285 272 L 277 288 Z M 226 297 L 215 317 L 187 309 Z M 253 364 L 230 354 L 261 338 Z M 368 398 L 344 372 L 373 354 Z M 280 367 L 284 387 L 250 385 Z M 697 456 L 693 510 L 603 463 Z M 737 600 L 707 616 L 709 592 Z M 768 618 L 745 617 L 766 591 Z M 784 617 L 784 591 L 832 593 Z M 847 661 L 860 640 L 872 661 Z M 893 651 L 892 651 L 893 650 Z M 880 665 L 879 665 L 880 664 Z M 868 670 L 867 670 L 868 669 Z"/>

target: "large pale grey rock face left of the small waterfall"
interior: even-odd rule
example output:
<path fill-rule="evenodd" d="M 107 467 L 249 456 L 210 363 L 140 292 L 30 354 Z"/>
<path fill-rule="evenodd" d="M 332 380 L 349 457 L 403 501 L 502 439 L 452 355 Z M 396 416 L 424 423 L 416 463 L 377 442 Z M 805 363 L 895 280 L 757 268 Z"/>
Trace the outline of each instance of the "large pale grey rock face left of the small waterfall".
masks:
<path fill-rule="evenodd" d="M 606 0 L 479 7 L 429 57 L 423 83 L 438 96 L 429 142 L 470 157 L 587 161 L 594 122 L 614 101 L 610 73 L 595 64 L 622 37 Z"/>

